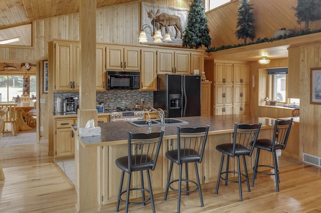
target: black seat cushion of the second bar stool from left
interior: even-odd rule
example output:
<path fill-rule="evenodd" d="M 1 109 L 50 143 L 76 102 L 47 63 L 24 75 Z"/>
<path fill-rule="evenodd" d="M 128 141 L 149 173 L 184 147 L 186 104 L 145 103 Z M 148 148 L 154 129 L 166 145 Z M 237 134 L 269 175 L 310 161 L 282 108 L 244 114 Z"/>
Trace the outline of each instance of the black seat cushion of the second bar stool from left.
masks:
<path fill-rule="evenodd" d="M 189 155 L 185 156 L 185 155 L 187 155 L 187 153 Z M 195 161 L 198 161 L 200 159 L 199 153 L 197 151 L 195 151 L 194 149 L 181 149 L 180 154 L 181 154 L 181 162 L 182 163 L 195 162 Z M 169 151 L 166 152 L 165 155 L 171 161 L 179 164 L 179 156 L 178 156 L 178 150 L 177 149 L 169 150 Z"/>

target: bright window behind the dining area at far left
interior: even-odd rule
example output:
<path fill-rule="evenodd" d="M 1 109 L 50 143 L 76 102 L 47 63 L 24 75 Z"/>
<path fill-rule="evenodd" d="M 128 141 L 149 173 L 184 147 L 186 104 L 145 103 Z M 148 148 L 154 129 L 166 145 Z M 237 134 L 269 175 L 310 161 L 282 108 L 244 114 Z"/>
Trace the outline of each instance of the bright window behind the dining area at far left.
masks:
<path fill-rule="evenodd" d="M 23 93 L 23 75 L 0 75 L 0 101 L 11 101 Z M 30 75 L 30 95 L 36 93 L 36 75 Z"/>

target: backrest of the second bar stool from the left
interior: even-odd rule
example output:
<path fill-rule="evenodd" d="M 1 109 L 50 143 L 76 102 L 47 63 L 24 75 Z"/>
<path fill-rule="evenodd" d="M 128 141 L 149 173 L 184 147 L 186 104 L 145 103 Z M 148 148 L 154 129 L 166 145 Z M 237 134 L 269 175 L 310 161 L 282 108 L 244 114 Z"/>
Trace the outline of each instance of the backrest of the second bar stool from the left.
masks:
<path fill-rule="evenodd" d="M 177 126 L 177 148 L 178 160 L 202 162 L 209 125 L 203 127 L 185 127 Z"/>

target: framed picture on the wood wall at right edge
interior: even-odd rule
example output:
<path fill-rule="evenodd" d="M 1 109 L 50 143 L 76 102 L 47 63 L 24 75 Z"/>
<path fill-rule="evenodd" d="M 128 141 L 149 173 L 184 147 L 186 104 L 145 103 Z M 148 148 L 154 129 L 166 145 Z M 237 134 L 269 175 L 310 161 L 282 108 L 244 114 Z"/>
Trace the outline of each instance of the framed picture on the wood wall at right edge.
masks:
<path fill-rule="evenodd" d="M 310 68 L 310 104 L 321 104 L 321 67 Z"/>

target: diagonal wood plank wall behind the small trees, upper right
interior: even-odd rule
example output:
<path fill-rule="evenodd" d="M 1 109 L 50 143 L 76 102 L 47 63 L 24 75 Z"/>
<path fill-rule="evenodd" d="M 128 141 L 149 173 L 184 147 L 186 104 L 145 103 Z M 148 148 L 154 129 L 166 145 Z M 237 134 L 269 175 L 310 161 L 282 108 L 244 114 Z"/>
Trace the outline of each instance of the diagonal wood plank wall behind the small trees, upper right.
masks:
<path fill-rule="evenodd" d="M 232 0 L 229 4 L 206 12 L 212 46 L 243 43 L 243 40 L 238 40 L 235 35 L 239 2 Z M 257 38 L 274 37 L 273 31 L 282 27 L 296 30 L 304 28 L 304 22 L 297 23 L 295 10 L 292 9 L 292 6 L 296 6 L 297 0 L 250 0 L 250 3 L 254 4 L 251 10 L 254 13 L 256 34 L 254 41 Z M 321 28 L 320 20 L 310 23 L 311 30 L 319 28 Z M 251 42 L 251 39 L 247 42 Z"/>

